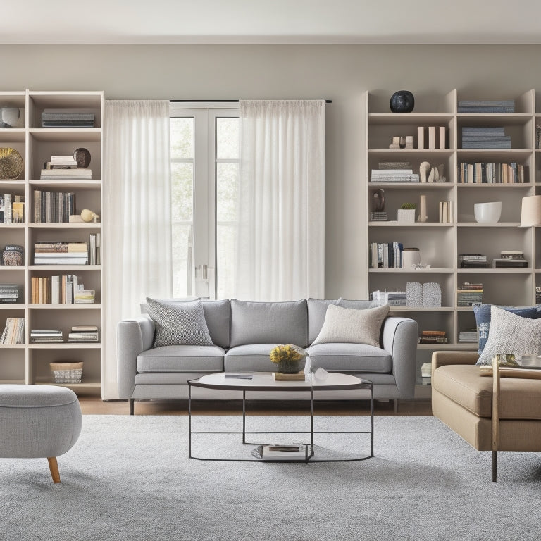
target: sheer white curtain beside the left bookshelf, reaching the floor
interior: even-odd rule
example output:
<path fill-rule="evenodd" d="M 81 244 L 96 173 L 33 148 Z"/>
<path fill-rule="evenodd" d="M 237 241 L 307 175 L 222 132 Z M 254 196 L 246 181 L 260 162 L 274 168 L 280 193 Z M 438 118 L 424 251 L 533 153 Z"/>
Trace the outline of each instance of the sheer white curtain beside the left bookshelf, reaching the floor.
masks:
<path fill-rule="evenodd" d="M 172 292 L 169 102 L 107 100 L 104 113 L 103 380 L 114 397 L 118 321 Z"/>

